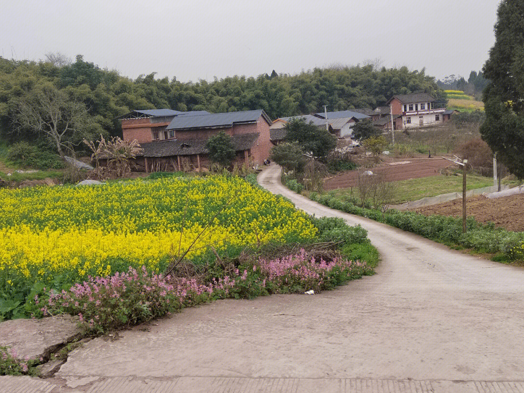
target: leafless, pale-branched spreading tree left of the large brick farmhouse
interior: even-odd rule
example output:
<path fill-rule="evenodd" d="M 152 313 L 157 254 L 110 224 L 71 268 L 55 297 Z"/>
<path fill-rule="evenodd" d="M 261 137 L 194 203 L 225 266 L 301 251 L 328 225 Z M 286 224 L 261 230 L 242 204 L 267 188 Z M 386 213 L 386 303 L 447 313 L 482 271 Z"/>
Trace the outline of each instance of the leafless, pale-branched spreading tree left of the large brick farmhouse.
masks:
<path fill-rule="evenodd" d="M 47 85 L 21 99 L 12 120 L 14 132 L 29 130 L 45 135 L 64 159 L 64 151 L 73 151 L 73 140 L 85 134 L 89 117 L 84 103 Z"/>

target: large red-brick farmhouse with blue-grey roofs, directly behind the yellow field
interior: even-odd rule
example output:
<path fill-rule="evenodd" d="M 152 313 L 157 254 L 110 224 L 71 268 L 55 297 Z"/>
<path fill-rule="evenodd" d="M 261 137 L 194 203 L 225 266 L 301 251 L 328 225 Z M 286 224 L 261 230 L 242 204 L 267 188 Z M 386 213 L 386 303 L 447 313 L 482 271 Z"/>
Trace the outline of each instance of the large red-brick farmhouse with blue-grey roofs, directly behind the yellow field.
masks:
<path fill-rule="evenodd" d="M 137 169 L 202 170 L 209 165 L 205 145 L 220 131 L 232 137 L 234 163 L 264 163 L 269 157 L 271 119 L 263 110 L 209 113 L 172 110 L 133 111 L 122 119 L 124 140 L 138 140 Z"/>

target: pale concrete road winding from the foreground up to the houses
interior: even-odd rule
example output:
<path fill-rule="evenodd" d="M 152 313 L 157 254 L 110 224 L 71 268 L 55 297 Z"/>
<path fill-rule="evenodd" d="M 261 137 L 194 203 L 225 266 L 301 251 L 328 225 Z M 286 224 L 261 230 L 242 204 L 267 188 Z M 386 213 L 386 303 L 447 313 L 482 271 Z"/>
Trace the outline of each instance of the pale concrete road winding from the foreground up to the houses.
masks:
<path fill-rule="evenodd" d="M 95 339 L 39 390 L 20 391 L 524 393 L 524 269 L 326 208 L 283 188 L 276 166 L 259 182 L 308 213 L 364 226 L 378 274 Z M 23 380 L 2 381 L 11 391 Z"/>

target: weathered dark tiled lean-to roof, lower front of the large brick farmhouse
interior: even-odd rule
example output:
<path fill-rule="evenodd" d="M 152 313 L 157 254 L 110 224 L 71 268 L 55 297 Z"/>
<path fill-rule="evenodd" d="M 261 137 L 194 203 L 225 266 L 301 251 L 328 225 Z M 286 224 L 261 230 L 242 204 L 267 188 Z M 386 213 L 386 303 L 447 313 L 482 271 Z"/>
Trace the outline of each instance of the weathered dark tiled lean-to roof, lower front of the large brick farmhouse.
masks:
<path fill-rule="evenodd" d="M 258 133 L 233 135 L 231 141 L 236 151 L 247 150 L 253 146 L 258 135 Z M 155 140 L 140 144 L 142 152 L 139 156 L 169 157 L 207 154 L 208 149 L 205 147 L 207 142 L 208 139 L 203 138 Z"/>

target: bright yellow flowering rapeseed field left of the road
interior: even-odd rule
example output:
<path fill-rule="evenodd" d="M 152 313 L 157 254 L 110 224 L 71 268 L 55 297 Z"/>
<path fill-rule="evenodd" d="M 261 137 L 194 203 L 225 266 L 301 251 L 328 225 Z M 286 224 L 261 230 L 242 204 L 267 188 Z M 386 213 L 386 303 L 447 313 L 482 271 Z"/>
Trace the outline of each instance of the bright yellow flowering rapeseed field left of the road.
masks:
<path fill-rule="evenodd" d="M 187 257 L 202 260 L 211 245 L 234 253 L 315 234 L 291 202 L 236 177 L 4 189 L 0 285 L 72 283 L 129 266 L 159 272 L 193 242 Z"/>

